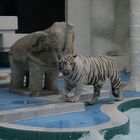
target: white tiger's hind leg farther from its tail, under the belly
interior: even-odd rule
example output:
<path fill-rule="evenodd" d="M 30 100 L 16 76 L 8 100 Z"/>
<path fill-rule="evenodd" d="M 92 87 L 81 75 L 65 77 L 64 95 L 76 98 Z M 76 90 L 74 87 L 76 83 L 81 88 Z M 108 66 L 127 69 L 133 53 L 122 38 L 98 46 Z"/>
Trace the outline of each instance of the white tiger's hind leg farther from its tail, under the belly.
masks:
<path fill-rule="evenodd" d="M 94 93 L 92 96 L 91 101 L 87 102 L 89 105 L 95 104 L 100 96 L 101 89 L 103 87 L 103 82 L 98 83 L 96 86 L 94 86 Z"/>

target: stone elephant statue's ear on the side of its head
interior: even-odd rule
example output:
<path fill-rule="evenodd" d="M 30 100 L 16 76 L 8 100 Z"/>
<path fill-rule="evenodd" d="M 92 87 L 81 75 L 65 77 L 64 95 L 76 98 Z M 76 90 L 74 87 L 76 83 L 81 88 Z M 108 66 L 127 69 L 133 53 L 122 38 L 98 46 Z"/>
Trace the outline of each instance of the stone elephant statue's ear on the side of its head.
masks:
<path fill-rule="evenodd" d="M 30 50 L 32 52 L 40 52 L 45 49 L 44 42 L 48 38 L 48 34 L 43 32 L 37 32 L 33 35 L 33 45 L 31 46 Z"/>

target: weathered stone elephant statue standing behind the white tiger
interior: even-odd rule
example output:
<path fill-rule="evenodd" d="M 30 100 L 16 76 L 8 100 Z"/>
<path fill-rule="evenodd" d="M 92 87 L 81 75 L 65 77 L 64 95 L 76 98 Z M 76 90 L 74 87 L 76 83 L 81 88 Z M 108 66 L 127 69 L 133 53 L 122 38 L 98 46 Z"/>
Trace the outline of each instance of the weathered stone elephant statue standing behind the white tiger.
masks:
<path fill-rule="evenodd" d="M 73 53 L 73 25 L 55 22 L 17 40 L 9 51 L 10 91 L 31 96 L 57 93 L 58 59 Z"/>

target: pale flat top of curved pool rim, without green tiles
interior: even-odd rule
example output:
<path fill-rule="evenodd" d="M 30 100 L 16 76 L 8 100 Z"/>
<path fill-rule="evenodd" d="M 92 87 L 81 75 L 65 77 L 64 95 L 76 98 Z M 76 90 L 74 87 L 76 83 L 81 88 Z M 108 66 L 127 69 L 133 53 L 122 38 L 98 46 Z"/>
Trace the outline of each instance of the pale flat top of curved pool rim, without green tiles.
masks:
<path fill-rule="evenodd" d="M 80 128 L 44 128 L 44 127 L 35 127 L 35 126 L 25 126 L 25 125 L 17 125 L 12 124 L 10 122 L 0 123 L 0 127 L 6 127 L 11 129 L 19 129 L 19 130 L 27 130 L 27 131 L 40 131 L 40 132 L 83 132 L 83 131 L 90 131 L 92 129 L 97 130 L 105 130 L 113 127 L 118 127 L 125 125 L 129 122 L 128 117 L 121 112 L 119 106 L 125 102 L 129 102 L 132 100 L 139 99 L 140 97 L 135 97 L 131 99 L 124 99 L 121 102 L 113 102 L 113 103 L 106 103 L 101 106 L 101 111 L 105 113 L 110 120 L 108 122 L 98 124 L 98 125 L 91 125 L 88 127 L 80 127 Z M 28 118 L 27 118 L 28 119 Z"/>

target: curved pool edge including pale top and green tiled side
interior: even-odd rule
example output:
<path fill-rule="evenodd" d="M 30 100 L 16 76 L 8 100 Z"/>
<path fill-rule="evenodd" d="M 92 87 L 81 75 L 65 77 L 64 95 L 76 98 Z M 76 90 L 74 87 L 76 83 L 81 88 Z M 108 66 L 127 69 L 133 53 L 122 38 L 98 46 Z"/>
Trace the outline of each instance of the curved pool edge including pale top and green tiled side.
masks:
<path fill-rule="evenodd" d="M 33 134 L 36 135 L 36 139 L 33 140 L 38 140 L 40 137 L 41 140 L 46 140 L 44 137 L 47 137 L 48 140 L 61 140 L 62 138 L 77 140 L 83 135 L 89 134 L 91 130 L 96 129 L 104 134 L 105 140 L 110 140 L 117 134 L 127 135 L 129 133 L 130 121 L 123 112 L 134 107 L 140 107 L 140 97 L 125 98 L 121 102 L 113 101 L 112 103 L 103 104 L 100 109 L 103 113 L 111 117 L 110 121 L 83 128 L 42 128 L 11 124 L 8 122 L 0 123 L 0 131 L 3 133 L 3 135 L 0 134 L 0 137 L 7 138 L 7 133 L 10 133 L 12 136 L 19 136 L 20 140 L 24 140 L 24 135 L 26 139 L 29 137 L 31 140 L 31 135 Z"/>

